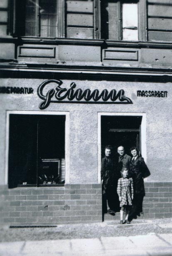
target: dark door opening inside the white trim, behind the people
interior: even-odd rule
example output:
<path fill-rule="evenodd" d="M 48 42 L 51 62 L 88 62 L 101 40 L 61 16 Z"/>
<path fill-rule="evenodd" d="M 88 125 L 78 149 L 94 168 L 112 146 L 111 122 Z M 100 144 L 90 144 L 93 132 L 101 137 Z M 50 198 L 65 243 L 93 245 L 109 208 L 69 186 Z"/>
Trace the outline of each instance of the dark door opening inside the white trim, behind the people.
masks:
<path fill-rule="evenodd" d="M 118 163 L 117 149 L 123 146 L 125 153 L 130 155 L 130 148 L 138 147 L 141 154 L 141 122 L 142 116 L 101 116 L 101 159 L 104 157 L 104 149 L 112 146 L 114 163 Z M 114 164 L 115 169 L 115 164 Z M 114 170 L 115 171 L 115 170 Z M 112 188 L 111 208 L 119 211 L 119 200 L 116 193 L 116 184 Z M 106 202 L 103 202 L 103 213 L 106 213 Z"/>

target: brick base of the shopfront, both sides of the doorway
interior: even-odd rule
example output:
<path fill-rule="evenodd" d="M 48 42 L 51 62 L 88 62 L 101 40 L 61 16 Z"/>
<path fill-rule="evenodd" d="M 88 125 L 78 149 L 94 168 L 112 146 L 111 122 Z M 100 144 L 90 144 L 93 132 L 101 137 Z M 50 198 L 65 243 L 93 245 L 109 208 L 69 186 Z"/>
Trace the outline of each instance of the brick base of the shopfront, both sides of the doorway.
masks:
<path fill-rule="evenodd" d="M 145 219 L 172 217 L 172 182 L 145 183 L 145 191 Z M 1 186 L 0 222 L 14 226 L 101 222 L 101 193 L 101 184 L 15 189 Z"/>

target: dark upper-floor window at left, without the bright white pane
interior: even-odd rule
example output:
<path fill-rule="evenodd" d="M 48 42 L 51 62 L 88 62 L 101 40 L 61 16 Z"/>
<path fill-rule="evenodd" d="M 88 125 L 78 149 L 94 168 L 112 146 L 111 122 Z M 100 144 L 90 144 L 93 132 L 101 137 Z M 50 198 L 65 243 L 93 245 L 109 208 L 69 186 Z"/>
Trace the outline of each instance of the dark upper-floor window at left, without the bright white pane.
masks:
<path fill-rule="evenodd" d="M 62 37 L 62 0 L 17 0 L 14 34 L 33 37 Z"/>

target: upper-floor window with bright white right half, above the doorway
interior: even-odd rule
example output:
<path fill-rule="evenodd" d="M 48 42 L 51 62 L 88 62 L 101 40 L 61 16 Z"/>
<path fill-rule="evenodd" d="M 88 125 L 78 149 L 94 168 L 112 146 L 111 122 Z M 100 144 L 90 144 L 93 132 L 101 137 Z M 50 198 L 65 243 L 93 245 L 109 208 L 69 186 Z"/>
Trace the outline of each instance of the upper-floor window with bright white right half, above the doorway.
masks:
<path fill-rule="evenodd" d="M 101 16 L 102 38 L 138 41 L 138 2 L 106 0 Z"/>

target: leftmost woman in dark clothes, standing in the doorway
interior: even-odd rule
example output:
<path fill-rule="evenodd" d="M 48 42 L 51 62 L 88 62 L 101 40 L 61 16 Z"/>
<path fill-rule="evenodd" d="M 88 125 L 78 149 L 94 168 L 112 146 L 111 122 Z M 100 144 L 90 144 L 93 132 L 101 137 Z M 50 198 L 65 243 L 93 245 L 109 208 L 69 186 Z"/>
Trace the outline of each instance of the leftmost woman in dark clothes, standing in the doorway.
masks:
<path fill-rule="evenodd" d="M 114 164 L 111 157 L 111 146 L 106 146 L 105 157 L 103 157 L 101 162 L 101 182 L 103 199 L 106 201 L 107 212 L 109 214 L 114 213 L 111 209 L 113 208 L 113 174 Z"/>

